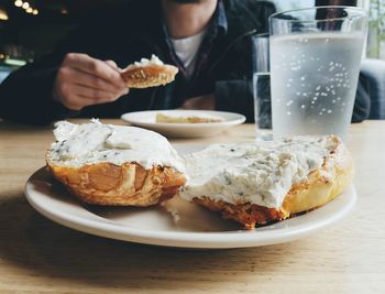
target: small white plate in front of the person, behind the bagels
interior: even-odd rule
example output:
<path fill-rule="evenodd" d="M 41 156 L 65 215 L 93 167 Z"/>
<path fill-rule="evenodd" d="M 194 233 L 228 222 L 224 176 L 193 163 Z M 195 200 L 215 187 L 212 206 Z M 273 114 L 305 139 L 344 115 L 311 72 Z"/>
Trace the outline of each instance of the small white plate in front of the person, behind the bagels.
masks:
<path fill-rule="evenodd" d="M 222 118 L 221 122 L 210 123 L 157 123 L 155 122 L 156 113 L 162 112 L 169 116 L 215 116 Z M 223 130 L 241 124 L 245 117 L 233 112 L 210 111 L 210 110 L 151 110 L 138 111 L 122 115 L 122 120 L 134 126 L 146 128 L 160 132 L 167 137 L 174 138 L 197 138 L 211 137 Z"/>

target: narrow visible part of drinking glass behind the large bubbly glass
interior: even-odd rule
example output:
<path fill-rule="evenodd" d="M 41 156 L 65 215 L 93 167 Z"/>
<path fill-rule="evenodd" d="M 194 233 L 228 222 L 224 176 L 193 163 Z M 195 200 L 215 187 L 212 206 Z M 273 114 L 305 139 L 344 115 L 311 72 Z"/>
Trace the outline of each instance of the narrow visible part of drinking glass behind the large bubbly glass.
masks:
<path fill-rule="evenodd" d="M 254 121 L 257 140 L 271 140 L 272 106 L 270 87 L 268 33 L 252 36 Z"/>

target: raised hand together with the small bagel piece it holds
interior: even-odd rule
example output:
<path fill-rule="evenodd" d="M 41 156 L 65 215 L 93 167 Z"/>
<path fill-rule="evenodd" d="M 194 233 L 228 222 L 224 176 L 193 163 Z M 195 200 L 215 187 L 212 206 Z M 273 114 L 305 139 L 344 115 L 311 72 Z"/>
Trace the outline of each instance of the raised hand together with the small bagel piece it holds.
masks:
<path fill-rule="evenodd" d="M 113 61 L 100 61 L 87 54 L 68 53 L 57 70 L 53 97 L 72 110 L 113 102 L 129 88 L 147 88 L 174 80 L 178 68 L 163 64 L 155 55 L 120 69 Z"/>

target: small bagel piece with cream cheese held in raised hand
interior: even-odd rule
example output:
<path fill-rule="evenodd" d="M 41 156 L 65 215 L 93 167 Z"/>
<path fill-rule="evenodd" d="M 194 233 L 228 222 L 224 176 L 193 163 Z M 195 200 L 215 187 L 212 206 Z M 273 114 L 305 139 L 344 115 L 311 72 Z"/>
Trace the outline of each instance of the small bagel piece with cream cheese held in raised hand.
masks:
<path fill-rule="evenodd" d="M 148 88 L 172 83 L 177 73 L 176 66 L 164 64 L 152 55 L 151 59 L 142 58 L 129 65 L 121 76 L 129 88 Z"/>

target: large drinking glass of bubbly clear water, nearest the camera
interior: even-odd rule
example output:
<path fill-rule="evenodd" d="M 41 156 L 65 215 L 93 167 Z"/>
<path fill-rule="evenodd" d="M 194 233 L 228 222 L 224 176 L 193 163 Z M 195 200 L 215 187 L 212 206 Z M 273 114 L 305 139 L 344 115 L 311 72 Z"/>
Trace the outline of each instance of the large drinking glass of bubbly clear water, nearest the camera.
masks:
<path fill-rule="evenodd" d="M 366 29 L 366 12 L 353 7 L 315 7 L 270 18 L 274 138 L 345 137 Z"/>

